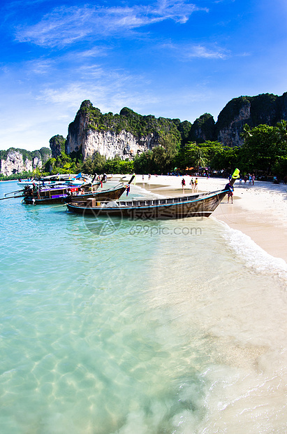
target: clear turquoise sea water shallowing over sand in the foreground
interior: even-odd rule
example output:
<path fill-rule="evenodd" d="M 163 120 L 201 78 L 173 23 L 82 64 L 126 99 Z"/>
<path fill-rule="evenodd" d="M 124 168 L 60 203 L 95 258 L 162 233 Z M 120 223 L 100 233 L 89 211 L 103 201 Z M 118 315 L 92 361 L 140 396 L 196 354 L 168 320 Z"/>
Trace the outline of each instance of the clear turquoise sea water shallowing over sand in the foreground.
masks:
<path fill-rule="evenodd" d="M 0 202 L 0 432 L 286 433 L 286 263 L 214 218 L 65 210 Z"/>

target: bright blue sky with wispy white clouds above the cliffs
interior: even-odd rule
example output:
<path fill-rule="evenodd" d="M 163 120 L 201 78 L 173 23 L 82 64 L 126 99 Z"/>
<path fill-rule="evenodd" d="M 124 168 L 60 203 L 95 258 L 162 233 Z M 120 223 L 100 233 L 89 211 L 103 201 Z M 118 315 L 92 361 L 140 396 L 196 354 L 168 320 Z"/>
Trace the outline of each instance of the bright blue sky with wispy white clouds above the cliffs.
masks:
<path fill-rule="evenodd" d="M 286 0 L 2 0 L 0 12 L 1 149 L 66 137 L 84 99 L 193 122 L 287 91 Z"/>

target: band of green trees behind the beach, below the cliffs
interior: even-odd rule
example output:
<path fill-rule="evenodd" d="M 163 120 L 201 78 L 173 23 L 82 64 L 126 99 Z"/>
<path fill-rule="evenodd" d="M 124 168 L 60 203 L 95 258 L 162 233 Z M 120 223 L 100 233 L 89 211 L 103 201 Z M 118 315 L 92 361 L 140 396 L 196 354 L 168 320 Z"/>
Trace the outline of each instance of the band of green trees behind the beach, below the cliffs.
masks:
<path fill-rule="evenodd" d="M 223 170 L 232 172 L 235 167 L 241 175 L 256 173 L 260 176 L 275 174 L 283 178 L 287 174 L 287 122 L 281 120 L 275 127 L 258 125 L 244 126 L 243 146 L 223 146 L 218 141 L 205 141 L 203 144 L 188 142 L 178 148 L 177 141 L 169 134 L 163 134 L 161 145 L 152 150 L 136 155 L 133 161 L 122 160 L 119 156 L 106 160 L 103 155 L 95 153 L 93 158 L 82 162 L 80 154 L 61 153 L 57 158 L 50 158 L 42 175 L 84 172 L 95 173 L 131 173 L 161 174 L 177 172 L 184 174 L 186 168 L 208 167 L 209 171 Z M 2 151 L 3 152 L 3 151 Z M 73 156 L 73 158 L 72 158 Z M 25 174 L 17 174 L 17 177 Z M 0 179 L 8 179 L 0 176 Z M 9 179 L 13 179 L 9 177 Z M 15 176 L 14 176 L 15 179 Z"/>

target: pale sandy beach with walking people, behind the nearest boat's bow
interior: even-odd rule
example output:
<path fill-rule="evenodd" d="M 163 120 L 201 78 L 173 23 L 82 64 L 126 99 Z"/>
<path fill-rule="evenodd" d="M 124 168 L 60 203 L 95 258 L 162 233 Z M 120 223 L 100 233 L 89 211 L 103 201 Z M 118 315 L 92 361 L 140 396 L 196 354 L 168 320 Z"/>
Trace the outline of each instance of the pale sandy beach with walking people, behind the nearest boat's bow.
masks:
<path fill-rule="evenodd" d="M 181 182 L 184 177 L 184 195 L 192 193 L 189 185 L 191 176 L 155 176 L 150 181 L 145 175 L 136 177 L 136 185 L 165 197 L 183 195 Z M 193 177 L 194 179 L 194 177 Z M 220 190 L 227 179 L 198 177 L 198 192 Z M 240 230 L 267 253 L 287 262 L 287 186 L 283 183 L 255 181 L 254 186 L 235 181 L 233 204 L 227 196 L 212 214 L 213 218 Z"/>

